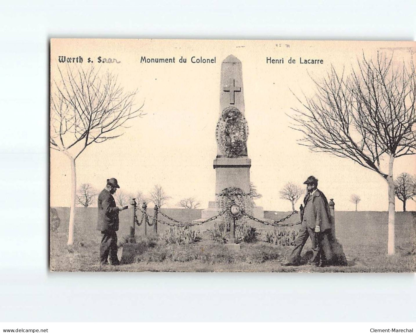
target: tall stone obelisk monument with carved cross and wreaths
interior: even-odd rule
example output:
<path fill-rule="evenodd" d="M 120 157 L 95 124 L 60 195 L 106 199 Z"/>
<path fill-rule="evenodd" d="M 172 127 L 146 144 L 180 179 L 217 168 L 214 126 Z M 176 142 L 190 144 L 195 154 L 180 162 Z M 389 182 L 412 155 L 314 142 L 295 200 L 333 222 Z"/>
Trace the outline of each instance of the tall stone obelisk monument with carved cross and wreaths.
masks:
<path fill-rule="evenodd" d="M 220 111 L 215 131 L 217 157 L 213 163 L 216 201 L 210 201 L 208 209 L 201 213 L 201 220 L 194 222 L 217 215 L 223 209 L 220 203 L 224 196 L 231 199 L 235 196 L 235 203 L 239 206 L 253 202 L 250 198 L 251 160 L 247 152 L 248 125 L 244 118 L 242 71 L 241 61 L 233 55 L 225 58 L 221 64 Z M 264 218 L 262 207 L 242 208 L 256 218 Z M 213 225 L 214 222 L 208 224 Z"/>

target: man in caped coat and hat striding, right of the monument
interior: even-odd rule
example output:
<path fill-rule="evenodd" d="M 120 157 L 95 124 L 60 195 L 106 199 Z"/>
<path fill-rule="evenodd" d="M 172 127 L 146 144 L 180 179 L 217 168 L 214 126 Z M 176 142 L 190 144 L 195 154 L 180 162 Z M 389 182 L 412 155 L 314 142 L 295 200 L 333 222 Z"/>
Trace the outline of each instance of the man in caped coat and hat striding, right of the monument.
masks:
<path fill-rule="evenodd" d="M 331 246 L 328 241 L 332 239 L 332 219 L 329 211 L 329 205 L 324 193 L 318 190 L 318 179 L 309 176 L 303 183 L 307 185 L 307 194 L 303 200 L 303 218 L 299 235 L 295 239 L 295 249 L 292 251 L 283 266 L 295 266 L 300 262 L 300 253 L 310 237 L 312 241 L 313 256 L 311 264 L 319 266 L 322 252 L 322 239 L 325 238 L 325 261 L 332 260 Z"/>

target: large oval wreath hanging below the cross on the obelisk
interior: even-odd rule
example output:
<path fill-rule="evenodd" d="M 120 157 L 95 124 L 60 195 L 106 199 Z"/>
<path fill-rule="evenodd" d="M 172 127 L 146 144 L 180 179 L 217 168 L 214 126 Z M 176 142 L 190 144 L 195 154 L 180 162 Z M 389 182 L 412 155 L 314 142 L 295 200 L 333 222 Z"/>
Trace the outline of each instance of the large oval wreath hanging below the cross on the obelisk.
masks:
<path fill-rule="evenodd" d="M 233 106 L 225 108 L 215 130 L 220 151 L 226 157 L 247 155 L 248 125 L 243 114 Z"/>

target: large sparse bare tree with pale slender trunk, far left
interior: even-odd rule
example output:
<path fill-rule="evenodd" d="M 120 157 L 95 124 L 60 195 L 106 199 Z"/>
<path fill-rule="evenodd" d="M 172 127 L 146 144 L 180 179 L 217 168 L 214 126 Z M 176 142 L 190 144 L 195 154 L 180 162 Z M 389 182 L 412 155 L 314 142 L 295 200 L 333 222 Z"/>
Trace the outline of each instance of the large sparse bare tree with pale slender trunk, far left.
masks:
<path fill-rule="evenodd" d="M 67 67 L 51 82 L 50 148 L 62 152 L 71 164 L 71 211 L 68 245 L 74 242 L 77 176 L 75 161 L 92 143 L 123 134 L 127 122 L 143 115 L 134 106 L 136 91 L 125 92 L 110 72 Z"/>

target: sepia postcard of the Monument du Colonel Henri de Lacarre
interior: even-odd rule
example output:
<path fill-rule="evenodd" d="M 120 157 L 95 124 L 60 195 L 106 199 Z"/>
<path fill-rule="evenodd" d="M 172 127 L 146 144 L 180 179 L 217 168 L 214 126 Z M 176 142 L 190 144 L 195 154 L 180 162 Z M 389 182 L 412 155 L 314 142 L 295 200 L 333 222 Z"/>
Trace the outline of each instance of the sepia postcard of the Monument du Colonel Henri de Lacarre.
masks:
<path fill-rule="evenodd" d="M 415 272 L 416 42 L 51 39 L 53 272 Z"/>

